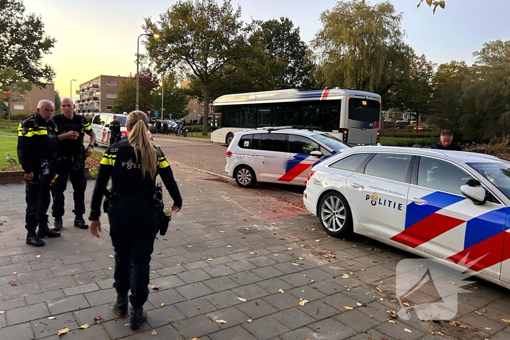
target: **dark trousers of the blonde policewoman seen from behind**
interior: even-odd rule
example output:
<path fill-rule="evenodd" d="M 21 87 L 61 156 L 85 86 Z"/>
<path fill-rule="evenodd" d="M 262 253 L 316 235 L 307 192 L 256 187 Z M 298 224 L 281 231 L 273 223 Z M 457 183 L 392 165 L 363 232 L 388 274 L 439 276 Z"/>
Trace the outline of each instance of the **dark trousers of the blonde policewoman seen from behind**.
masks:
<path fill-rule="evenodd" d="M 115 248 L 115 282 L 117 294 L 131 290 L 134 308 L 143 306 L 149 295 L 150 255 L 154 250 L 158 211 L 152 200 L 117 196 L 108 208 L 110 237 Z"/>

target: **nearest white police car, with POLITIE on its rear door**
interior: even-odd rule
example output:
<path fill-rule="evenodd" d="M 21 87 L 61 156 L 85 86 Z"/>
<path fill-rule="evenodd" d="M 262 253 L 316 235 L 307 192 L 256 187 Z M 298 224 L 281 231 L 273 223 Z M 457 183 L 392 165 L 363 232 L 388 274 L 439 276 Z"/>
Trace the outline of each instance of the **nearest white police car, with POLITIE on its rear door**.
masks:
<path fill-rule="evenodd" d="M 312 169 L 303 201 L 331 236 L 353 231 L 510 287 L 510 162 L 354 147 Z"/>

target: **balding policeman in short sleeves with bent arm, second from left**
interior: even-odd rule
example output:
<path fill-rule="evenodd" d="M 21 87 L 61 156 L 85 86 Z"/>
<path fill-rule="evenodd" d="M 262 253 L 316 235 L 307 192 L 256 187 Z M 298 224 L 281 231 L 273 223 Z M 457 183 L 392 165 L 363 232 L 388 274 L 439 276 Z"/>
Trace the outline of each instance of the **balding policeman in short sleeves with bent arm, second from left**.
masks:
<path fill-rule="evenodd" d="M 53 230 L 62 229 L 62 216 L 64 216 L 64 191 L 67 188 L 67 178 L 71 178 L 74 198 L 74 226 L 87 229 L 89 226 L 83 219 L 85 213 L 85 189 L 87 177 L 85 175 L 85 158 L 92 154 L 95 143 L 95 134 L 90 123 L 82 115 L 74 113 L 74 104 L 71 98 L 61 100 L 62 114 L 56 115 L 53 120 L 57 125 L 59 139 L 59 154 L 57 174 L 59 178 L 52 186 L 53 205 L 52 215 L 55 219 Z M 89 145 L 83 146 L 83 137 L 89 135 Z"/>

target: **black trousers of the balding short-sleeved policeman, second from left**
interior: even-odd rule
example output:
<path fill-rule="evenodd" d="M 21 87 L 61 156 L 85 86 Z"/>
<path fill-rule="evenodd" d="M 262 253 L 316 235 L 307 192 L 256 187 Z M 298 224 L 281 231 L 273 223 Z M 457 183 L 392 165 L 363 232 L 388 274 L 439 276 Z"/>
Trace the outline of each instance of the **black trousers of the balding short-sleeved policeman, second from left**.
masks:
<path fill-rule="evenodd" d="M 85 175 L 85 159 L 71 163 L 60 161 L 57 163 L 59 178 L 52 186 L 53 205 L 52 216 L 62 218 L 64 216 L 64 191 L 67 188 L 67 178 L 71 178 L 72 197 L 74 198 L 75 215 L 85 214 L 85 189 L 87 188 L 87 176 Z"/>

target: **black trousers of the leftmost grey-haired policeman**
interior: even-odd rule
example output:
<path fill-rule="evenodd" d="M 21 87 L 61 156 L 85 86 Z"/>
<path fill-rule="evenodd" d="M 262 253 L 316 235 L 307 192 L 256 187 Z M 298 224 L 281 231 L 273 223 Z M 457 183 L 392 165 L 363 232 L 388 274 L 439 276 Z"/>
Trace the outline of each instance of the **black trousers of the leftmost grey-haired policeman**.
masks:
<path fill-rule="evenodd" d="M 50 187 L 49 182 L 55 176 L 54 165 L 48 165 L 42 174 L 34 172 L 32 180 L 25 180 L 25 228 L 35 230 L 39 223 L 48 222 Z"/>

